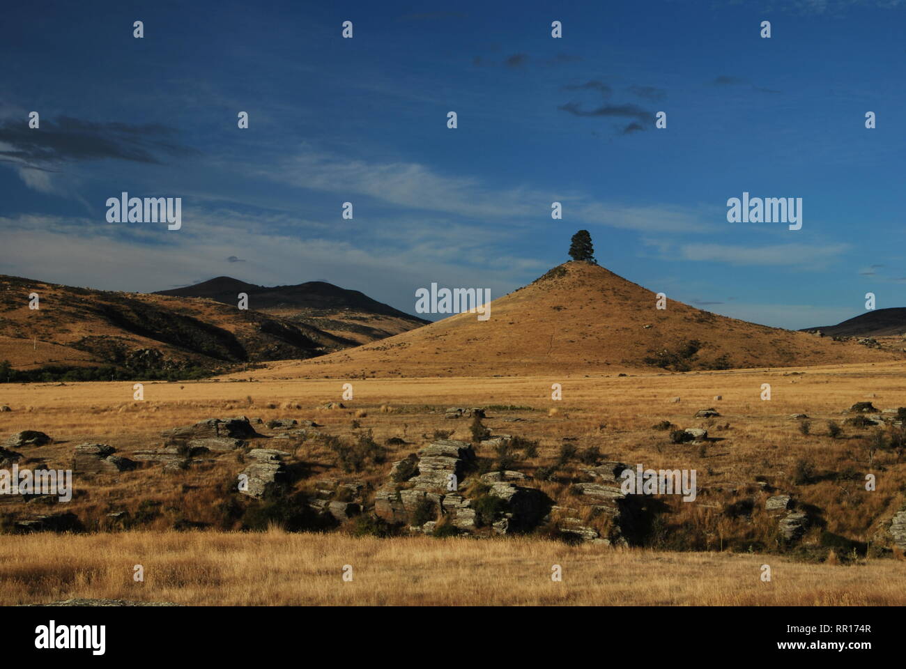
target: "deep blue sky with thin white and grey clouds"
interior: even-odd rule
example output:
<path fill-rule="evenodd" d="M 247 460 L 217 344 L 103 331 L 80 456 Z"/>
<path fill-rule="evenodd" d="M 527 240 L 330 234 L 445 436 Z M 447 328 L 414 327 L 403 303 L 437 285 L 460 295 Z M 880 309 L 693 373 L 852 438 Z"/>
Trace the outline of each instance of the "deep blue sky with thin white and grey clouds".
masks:
<path fill-rule="evenodd" d="M 906 2 L 257 5 L 5 7 L 0 273 L 318 279 L 413 313 L 432 282 L 523 286 L 586 228 L 604 267 L 718 314 L 906 304 Z M 124 190 L 182 198 L 182 228 L 108 223 Z M 802 198 L 802 229 L 728 223 L 743 191 Z"/>

